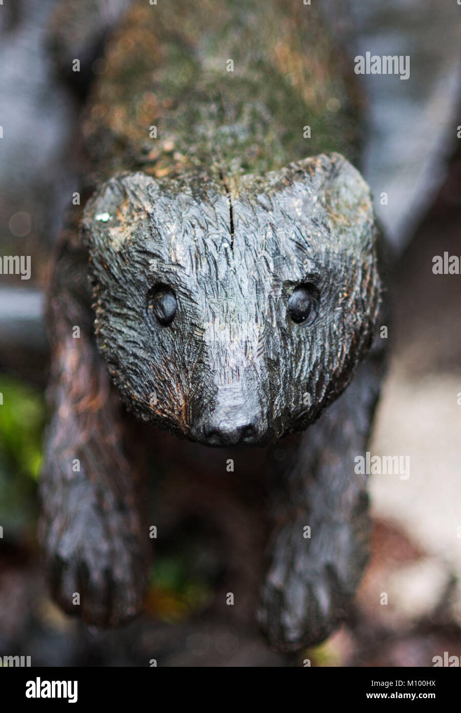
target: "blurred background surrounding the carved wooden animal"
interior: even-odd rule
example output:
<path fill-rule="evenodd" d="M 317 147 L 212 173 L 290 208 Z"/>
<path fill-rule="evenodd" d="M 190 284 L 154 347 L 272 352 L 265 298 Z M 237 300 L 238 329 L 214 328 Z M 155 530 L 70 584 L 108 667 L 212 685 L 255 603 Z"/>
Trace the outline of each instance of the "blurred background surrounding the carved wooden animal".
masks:
<path fill-rule="evenodd" d="M 391 358 L 371 451 L 410 456 L 410 478 L 371 478 L 372 558 L 356 600 L 341 630 L 294 657 L 271 652 L 244 615 L 230 621 L 215 605 L 226 543 L 202 524 L 207 508 L 193 478 L 181 480 L 180 461 L 172 482 L 159 478 L 152 486 L 164 503 L 153 521 L 168 536 L 156 548 L 145 617 L 100 632 L 64 616 L 47 596 L 36 544 L 46 423 L 42 290 L 78 183 L 79 108 L 46 54 L 54 6 L 0 6 L 0 254 L 31 255 L 33 266 L 29 281 L 4 275 L 0 285 L 0 657 L 31 655 L 33 665 L 45 666 L 148 666 L 155 659 L 265 667 L 309 657 L 313 666 L 428 667 L 444 651 L 461 655 L 461 277 L 432 274 L 433 256 L 461 256 L 461 6 L 325 2 L 351 61 L 366 51 L 410 55 L 408 81 L 358 78 L 368 96 L 361 168 L 396 266 Z M 387 205 L 380 205 L 383 192 Z M 171 453 L 175 468 L 174 444 Z M 251 517 L 251 507 L 229 501 L 221 484 L 214 488 L 229 521 Z M 245 560 L 249 543 L 235 547 L 244 591 L 258 566 Z"/>

